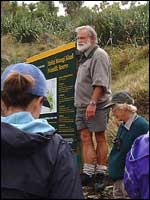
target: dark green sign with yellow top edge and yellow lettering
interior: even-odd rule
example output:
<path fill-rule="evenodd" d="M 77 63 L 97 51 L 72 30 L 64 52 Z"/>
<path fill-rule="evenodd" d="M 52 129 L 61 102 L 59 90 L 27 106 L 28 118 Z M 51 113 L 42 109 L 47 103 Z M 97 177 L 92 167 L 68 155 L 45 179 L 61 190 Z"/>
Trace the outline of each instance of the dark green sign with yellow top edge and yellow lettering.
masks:
<path fill-rule="evenodd" d="M 74 84 L 76 78 L 75 43 L 27 59 L 45 74 L 47 99 L 50 106 L 42 106 L 41 118 L 47 119 L 72 146 L 76 148 Z"/>

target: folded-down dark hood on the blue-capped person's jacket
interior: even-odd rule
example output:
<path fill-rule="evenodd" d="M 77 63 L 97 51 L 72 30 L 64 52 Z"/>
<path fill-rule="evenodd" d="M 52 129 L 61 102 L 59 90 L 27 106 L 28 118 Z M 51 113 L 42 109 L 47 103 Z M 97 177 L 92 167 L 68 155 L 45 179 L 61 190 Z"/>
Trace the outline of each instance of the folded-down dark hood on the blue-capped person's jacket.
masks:
<path fill-rule="evenodd" d="M 28 155 L 46 145 L 55 130 L 46 133 L 26 133 L 8 123 L 1 123 L 2 155 Z"/>

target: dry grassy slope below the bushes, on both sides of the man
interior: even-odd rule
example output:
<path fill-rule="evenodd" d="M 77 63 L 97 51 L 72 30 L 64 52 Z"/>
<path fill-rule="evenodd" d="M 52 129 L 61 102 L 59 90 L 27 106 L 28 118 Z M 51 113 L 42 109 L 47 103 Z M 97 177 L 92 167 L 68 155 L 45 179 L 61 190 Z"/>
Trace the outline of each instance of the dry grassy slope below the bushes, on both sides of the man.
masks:
<path fill-rule="evenodd" d="M 64 44 L 58 38 L 48 40 L 49 36 L 37 43 L 16 43 L 7 35 L 1 39 L 2 67 L 15 62 L 24 62 L 26 58 L 53 49 Z M 107 47 L 112 61 L 112 92 L 127 90 L 135 98 L 138 114 L 149 120 L 149 46 L 134 47 L 122 45 Z M 117 121 L 110 116 L 108 142 L 111 146 L 116 134 Z"/>

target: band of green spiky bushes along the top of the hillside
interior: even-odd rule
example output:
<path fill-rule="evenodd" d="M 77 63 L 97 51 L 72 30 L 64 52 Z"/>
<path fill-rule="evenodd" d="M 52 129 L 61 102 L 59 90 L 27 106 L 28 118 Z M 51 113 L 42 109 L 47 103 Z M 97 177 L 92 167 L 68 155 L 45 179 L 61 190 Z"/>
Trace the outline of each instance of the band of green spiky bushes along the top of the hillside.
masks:
<path fill-rule="evenodd" d="M 66 43 L 75 39 L 75 27 L 89 24 L 95 28 L 101 46 L 110 38 L 114 45 L 149 42 L 149 2 L 137 5 L 137 1 L 120 1 L 110 5 L 101 1 L 92 9 L 83 6 L 84 1 L 59 2 L 65 8 L 65 16 L 57 15 L 54 1 L 23 3 L 22 6 L 18 6 L 17 1 L 2 1 L 2 36 L 11 34 L 18 42 L 26 43 L 39 41 L 47 33 Z M 130 6 L 121 9 L 121 4 Z"/>

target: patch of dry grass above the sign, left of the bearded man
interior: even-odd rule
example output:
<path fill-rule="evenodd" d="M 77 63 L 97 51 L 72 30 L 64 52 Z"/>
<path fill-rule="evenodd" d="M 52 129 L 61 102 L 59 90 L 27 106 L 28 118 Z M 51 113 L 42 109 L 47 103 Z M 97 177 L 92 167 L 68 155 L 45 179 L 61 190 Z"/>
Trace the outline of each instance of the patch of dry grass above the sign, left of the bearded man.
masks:
<path fill-rule="evenodd" d="M 1 38 L 1 55 L 2 58 L 8 59 L 10 63 L 24 62 L 26 58 L 38 53 L 53 49 L 64 44 L 56 36 L 45 34 L 40 41 L 35 43 L 20 43 L 11 35 L 5 35 Z"/>

